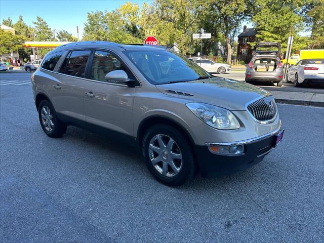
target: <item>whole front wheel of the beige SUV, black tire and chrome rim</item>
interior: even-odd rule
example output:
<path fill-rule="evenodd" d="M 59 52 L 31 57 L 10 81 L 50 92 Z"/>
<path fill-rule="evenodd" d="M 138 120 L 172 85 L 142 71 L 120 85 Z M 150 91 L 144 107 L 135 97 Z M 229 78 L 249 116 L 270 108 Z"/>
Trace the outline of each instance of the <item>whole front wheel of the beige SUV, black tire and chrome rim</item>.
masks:
<path fill-rule="evenodd" d="M 183 185 L 195 174 L 193 148 L 171 126 L 151 127 L 144 136 L 142 151 L 150 173 L 165 185 Z"/>

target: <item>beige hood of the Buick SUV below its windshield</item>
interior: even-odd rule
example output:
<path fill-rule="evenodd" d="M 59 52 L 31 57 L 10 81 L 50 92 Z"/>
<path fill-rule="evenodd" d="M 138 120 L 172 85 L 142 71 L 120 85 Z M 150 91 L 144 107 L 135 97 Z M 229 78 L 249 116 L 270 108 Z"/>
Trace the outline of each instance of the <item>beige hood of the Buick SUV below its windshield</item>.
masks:
<path fill-rule="evenodd" d="M 167 95 L 186 97 L 192 102 L 220 106 L 229 110 L 245 110 L 245 104 L 270 93 L 229 78 L 213 77 L 175 84 L 156 85 Z"/>

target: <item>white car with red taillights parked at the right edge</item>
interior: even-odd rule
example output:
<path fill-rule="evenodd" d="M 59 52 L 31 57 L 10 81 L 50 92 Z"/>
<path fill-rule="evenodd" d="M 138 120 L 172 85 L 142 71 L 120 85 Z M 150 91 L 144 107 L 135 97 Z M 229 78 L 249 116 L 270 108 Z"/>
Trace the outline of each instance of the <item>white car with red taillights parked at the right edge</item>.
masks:
<path fill-rule="evenodd" d="M 295 87 L 302 84 L 324 84 L 324 59 L 304 59 L 288 69 L 287 83 Z"/>

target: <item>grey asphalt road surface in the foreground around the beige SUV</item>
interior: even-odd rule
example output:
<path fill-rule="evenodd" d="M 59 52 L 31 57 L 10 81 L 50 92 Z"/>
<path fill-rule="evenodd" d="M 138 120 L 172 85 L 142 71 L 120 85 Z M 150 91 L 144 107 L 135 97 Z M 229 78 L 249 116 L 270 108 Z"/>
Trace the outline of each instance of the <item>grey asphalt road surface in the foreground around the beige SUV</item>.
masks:
<path fill-rule="evenodd" d="M 29 84 L 0 100 L 1 242 L 324 240 L 322 108 L 278 105 L 284 140 L 260 164 L 171 188 L 127 144 L 74 127 L 47 137 Z"/>

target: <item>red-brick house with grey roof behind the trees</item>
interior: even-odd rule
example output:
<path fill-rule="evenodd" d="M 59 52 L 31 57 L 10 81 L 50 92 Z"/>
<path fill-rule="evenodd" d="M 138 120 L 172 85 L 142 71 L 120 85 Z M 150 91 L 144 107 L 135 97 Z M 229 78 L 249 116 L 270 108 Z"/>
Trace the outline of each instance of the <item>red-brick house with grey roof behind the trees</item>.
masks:
<path fill-rule="evenodd" d="M 255 29 L 247 28 L 245 25 L 243 31 L 237 36 L 237 60 L 248 63 L 252 58 L 253 47 L 249 44 L 255 41 Z"/>

